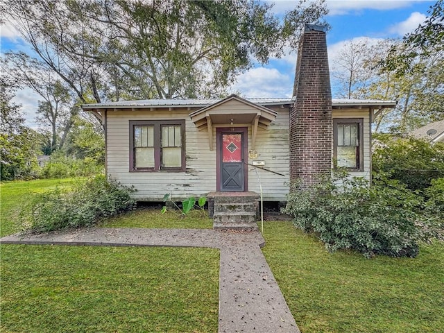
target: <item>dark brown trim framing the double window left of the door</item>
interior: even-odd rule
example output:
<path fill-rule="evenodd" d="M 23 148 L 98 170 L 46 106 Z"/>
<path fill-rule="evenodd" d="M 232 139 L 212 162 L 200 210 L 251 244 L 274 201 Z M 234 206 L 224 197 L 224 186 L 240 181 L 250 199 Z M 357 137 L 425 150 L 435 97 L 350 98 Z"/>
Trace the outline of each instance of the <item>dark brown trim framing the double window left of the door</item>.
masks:
<path fill-rule="evenodd" d="M 181 172 L 185 171 L 185 120 L 130 120 L 130 172 Z M 182 166 L 162 167 L 161 126 L 180 126 L 182 139 Z M 135 126 L 154 126 L 154 168 L 135 168 Z"/>

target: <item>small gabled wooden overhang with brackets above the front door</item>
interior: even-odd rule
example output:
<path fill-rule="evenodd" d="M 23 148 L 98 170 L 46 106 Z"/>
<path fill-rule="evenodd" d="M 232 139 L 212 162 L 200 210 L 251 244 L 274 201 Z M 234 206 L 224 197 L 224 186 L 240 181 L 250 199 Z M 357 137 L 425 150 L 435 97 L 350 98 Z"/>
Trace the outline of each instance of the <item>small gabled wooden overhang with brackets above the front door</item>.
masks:
<path fill-rule="evenodd" d="M 233 106 L 232 102 L 242 105 L 242 108 Z M 225 107 L 224 107 L 225 106 Z M 205 108 L 189 114 L 191 121 L 198 130 L 206 130 L 210 151 L 213 150 L 213 128 L 217 127 L 248 127 L 251 126 L 251 148 L 255 148 L 257 129 L 266 129 L 275 120 L 278 112 L 265 108 L 262 105 L 242 99 L 237 95 L 230 95 Z"/>

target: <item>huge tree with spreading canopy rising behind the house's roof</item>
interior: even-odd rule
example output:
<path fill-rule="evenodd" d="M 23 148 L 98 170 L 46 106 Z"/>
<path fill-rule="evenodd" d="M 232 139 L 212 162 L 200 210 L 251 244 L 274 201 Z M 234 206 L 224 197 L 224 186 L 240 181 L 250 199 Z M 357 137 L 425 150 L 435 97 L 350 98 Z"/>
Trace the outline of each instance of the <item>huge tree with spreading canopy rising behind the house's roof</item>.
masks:
<path fill-rule="evenodd" d="M 10 0 L 3 12 L 80 101 L 99 103 L 219 95 L 325 15 L 304 2 L 283 22 L 250 0 Z"/>

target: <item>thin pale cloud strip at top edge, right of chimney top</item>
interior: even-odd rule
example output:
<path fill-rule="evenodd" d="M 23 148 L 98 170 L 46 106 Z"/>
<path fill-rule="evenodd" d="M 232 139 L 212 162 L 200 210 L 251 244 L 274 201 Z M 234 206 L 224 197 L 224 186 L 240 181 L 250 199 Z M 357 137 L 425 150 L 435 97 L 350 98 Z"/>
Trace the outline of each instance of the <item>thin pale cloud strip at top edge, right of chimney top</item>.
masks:
<path fill-rule="evenodd" d="M 391 10 L 395 8 L 404 8 L 411 5 L 414 1 L 404 0 L 327 0 L 327 8 L 330 10 L 328 15 L 345 15 L 354 11 L 364 9 Z"/>

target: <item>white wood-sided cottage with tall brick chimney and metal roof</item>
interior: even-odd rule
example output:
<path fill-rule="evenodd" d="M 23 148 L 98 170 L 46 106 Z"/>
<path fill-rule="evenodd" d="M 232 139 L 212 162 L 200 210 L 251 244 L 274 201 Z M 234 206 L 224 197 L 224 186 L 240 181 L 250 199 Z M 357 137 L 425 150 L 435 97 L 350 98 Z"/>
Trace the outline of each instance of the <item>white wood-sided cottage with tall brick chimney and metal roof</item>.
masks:
<path fill-rule="evenodd" d="M 138 200 L 209 192 L 285 201 L 334 164 L 370 178 L 370 123 L 395 101 L 332 100 L 323 27 L 301 39 L 293 99 L 153 99 L 83 105 L 105 128 L 106 171 Z M 255 168 L 257 168 L 255 170 Z"/>

